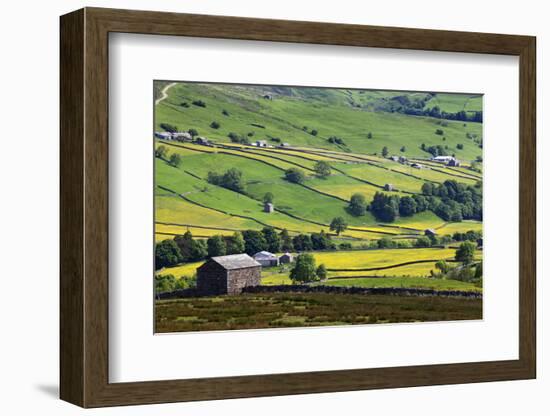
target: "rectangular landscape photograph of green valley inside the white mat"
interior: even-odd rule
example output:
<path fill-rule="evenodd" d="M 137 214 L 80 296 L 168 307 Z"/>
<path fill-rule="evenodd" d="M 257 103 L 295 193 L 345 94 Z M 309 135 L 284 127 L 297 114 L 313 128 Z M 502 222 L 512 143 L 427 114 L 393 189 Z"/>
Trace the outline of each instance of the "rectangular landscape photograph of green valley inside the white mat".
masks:
<path fill-rule="evenodd" d="M 155 333 L 483 319 L 482 93 L 152 87 Z"/>

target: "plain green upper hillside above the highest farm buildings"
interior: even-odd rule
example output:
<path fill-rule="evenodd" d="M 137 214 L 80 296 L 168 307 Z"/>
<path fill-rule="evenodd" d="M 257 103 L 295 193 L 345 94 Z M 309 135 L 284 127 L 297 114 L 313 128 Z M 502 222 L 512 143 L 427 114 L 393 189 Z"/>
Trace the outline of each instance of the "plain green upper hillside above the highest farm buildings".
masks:
<path fill-rule="evenodd" d="M 263 98 L 266 94 L 272 99 Z M 431 155 L 420 148 L 424 143 L 446 146 L 449 154 L 456 154 L 462 160 L 481 156 L 481 149 L 466 136 L 469 133 L 482 138 L 481 123 L 446 120 L 442 127 L 439 119 L 379 111 L 384 108 L 384 100 L 407 96 L 410 101 L 420 93 L 399 94 L 179 83 L 157 106 L 155 130 L 162 130 L 161 123 L 169 123 L 185 130 L 194 128 L 218 142 L 228 142 L 228 134 L 233 132 L 250 140 L 275 138 L 293 146 L 363 154 L 379 154 L 387 146 L 392 154 L 429 157 Z M 449 97 L 455 97 L 454 101 Z M 465 105 L 478 108 L 478 104 L 469 104 L 472 98 L 453 94 L 437 94 L 428 105 L 436 99 L 437 105 L 443 105 L 444 98 L 445 103 L 453 103 L 449 108 L 453 111 Z M 204 102 L 205 107 L 193 104 L 198 100 Z M 212 122 L 219 123 L 220 127 L 212 128 Z M 436 134 L 437 129 L 442 129 L 443 135 Z M 316 136 L 311 134 L 312 130 L 318 132 Z M 331 136 L 343 139 L 344 144 L 329 143 Z M 457 145 L 463 148 L 458 149 Z M 406 149 L 401 152 L 403 146 Z"/>

